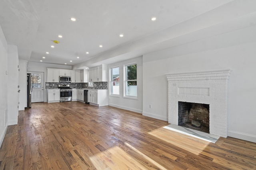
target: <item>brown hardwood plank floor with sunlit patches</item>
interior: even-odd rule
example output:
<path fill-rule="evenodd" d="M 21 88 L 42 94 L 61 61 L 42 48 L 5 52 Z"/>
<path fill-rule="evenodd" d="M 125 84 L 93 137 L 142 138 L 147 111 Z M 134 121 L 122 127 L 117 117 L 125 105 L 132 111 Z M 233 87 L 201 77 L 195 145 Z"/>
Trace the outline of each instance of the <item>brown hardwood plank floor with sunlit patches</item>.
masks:
<path fill-rule="evenodd" d="M 256 143 L 208 143 L 166 125 L 110 106 L 34 103 L 8 127 L 0 170 L 256 169 Z"/>

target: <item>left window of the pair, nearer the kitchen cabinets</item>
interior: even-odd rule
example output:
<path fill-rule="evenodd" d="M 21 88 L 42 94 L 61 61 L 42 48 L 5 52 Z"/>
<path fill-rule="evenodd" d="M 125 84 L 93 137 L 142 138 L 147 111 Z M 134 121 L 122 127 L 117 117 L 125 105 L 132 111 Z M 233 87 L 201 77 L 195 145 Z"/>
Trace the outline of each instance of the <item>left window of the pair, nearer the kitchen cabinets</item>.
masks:
<path fill-rule="evenodd" d="M 110 72 L 110 94 L 112 95 L 119 95 L 119 67 L 112 67 L 110 68 L 111 72 Z"/>

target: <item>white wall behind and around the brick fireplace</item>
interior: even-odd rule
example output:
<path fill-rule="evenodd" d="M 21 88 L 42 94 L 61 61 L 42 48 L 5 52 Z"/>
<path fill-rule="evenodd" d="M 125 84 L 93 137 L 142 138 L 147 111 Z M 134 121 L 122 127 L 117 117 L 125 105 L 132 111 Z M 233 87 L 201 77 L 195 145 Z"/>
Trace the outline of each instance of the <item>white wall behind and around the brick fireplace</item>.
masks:
<path fill-rule="evenodd" d="M 204 37 L 143 56 L 143 115 L 167 121 L 168 84 L 165 74 L 231 69 L 228 85 L 228 136 L 256 142 L 256 18 L 248 27 Z M 194 35 L 214 32 L 197 31 Z M 184 35 L 180 39 L 189 39 Z M 179 38 L 176 39 L 177 41 Z M 152 105 L 152 109 L 149 105 Z"/>

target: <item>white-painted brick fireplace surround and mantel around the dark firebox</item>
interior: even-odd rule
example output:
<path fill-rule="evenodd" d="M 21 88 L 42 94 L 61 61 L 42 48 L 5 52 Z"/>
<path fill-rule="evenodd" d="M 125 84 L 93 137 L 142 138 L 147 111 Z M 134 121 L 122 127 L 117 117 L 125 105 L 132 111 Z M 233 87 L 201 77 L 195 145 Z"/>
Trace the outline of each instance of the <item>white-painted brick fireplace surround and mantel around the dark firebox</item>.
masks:
<path fill-rule="evenodd" d="M 168 122 L 178 125 L 178 102 L 209 105 L 209 132 L 227 137 L 227 89 L 230 70 L 167 74 Z"/>

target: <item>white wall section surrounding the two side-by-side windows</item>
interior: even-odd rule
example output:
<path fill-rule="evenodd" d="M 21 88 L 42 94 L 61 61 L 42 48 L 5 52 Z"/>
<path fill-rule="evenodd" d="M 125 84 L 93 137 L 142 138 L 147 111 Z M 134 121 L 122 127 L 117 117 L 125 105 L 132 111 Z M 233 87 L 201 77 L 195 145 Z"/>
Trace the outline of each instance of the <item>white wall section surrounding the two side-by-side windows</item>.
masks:
<path fill-rule="evenodd" d="M 130 64 L 137 62 L 137 98 L 138 99 L 128 99 L 123 97 L 123 81 L 124 81 L 124 64 Z M 111 67 L 119 66 L 119 76 L 120 76 L 120 96 L 113 97 L 108 96 L 108 105 L 118 107 L 121 109 L 126 109 L 130 111 L 134 111 L 137 113 L 142 113 L 142 57 L 137 57 L 134 59 L 122 61 L 120 63 L 113 63 L 108 65 L 108 80 L 110 80 L 109 70 Z M 110 83 L 108 81 L 108 94 L 110 94 Z"/>

